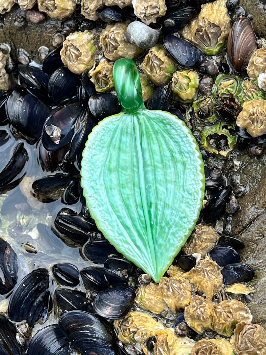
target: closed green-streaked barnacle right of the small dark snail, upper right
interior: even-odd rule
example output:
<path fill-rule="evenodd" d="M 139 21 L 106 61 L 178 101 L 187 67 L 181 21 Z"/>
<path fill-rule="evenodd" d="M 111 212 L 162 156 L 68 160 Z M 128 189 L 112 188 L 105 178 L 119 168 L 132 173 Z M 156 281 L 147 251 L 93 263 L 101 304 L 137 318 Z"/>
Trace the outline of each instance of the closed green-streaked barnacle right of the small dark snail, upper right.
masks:
<path fill-rule="evenodd" d="M 212 95 L 216 98 L 228 98 L 230 94 L 236 99 L 242 91 L 242 78 L 231 74 L 220 73 L 212 88 Z"/>

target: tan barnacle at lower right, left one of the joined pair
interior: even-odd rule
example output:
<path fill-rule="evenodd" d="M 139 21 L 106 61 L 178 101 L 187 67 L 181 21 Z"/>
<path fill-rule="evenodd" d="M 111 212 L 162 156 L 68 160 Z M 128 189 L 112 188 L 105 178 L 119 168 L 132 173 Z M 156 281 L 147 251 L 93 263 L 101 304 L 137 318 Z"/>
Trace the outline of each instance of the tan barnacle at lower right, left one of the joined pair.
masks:
<path fill-rule="evenodd" d="M 194 296 L 184 311 L 188 326 L 199 334 L 202 334 L 206 329 L 212 329 L 213 306 L 212 301 L 201 296 Z"/>

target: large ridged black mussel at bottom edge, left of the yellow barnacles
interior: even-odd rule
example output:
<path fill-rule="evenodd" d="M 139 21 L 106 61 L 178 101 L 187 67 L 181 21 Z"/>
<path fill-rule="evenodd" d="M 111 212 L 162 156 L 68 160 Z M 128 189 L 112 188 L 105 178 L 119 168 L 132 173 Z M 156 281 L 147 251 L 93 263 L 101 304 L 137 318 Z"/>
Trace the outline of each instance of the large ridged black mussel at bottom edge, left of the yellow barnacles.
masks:
<path fill-rule="evenodd" d="M 59 320 L 61 331 L 82 355 L 115 355 L 115 334 L 108 323 L 83 311 L 69 311 Z"/>

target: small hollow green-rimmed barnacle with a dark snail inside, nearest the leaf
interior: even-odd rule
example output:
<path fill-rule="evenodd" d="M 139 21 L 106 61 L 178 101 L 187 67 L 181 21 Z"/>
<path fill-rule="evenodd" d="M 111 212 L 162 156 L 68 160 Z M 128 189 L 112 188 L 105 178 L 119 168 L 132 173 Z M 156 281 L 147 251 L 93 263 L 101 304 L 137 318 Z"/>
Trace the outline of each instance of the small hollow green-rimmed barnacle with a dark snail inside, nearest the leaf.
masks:
<path fill-rule="evenodd" d="M 218 119 L 216 111 L 214 110 L 215 100 L 212 96 L 201 97 L 199 100 L 193 102 L 193 109 L 195 116 L 199 120 L 207 120 L 211 123 Z"/>

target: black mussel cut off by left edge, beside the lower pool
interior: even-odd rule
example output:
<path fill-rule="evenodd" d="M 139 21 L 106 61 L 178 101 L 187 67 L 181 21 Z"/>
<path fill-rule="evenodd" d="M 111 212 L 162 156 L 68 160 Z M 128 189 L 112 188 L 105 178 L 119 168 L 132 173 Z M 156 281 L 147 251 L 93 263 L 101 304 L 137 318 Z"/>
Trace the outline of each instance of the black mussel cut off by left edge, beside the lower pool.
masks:
<path fill-rule="evenodd" d="M 13 288 L 17 283 L 18 259 L 11 245 L 0 238 L 0 267 L 6 283 Z"/>

